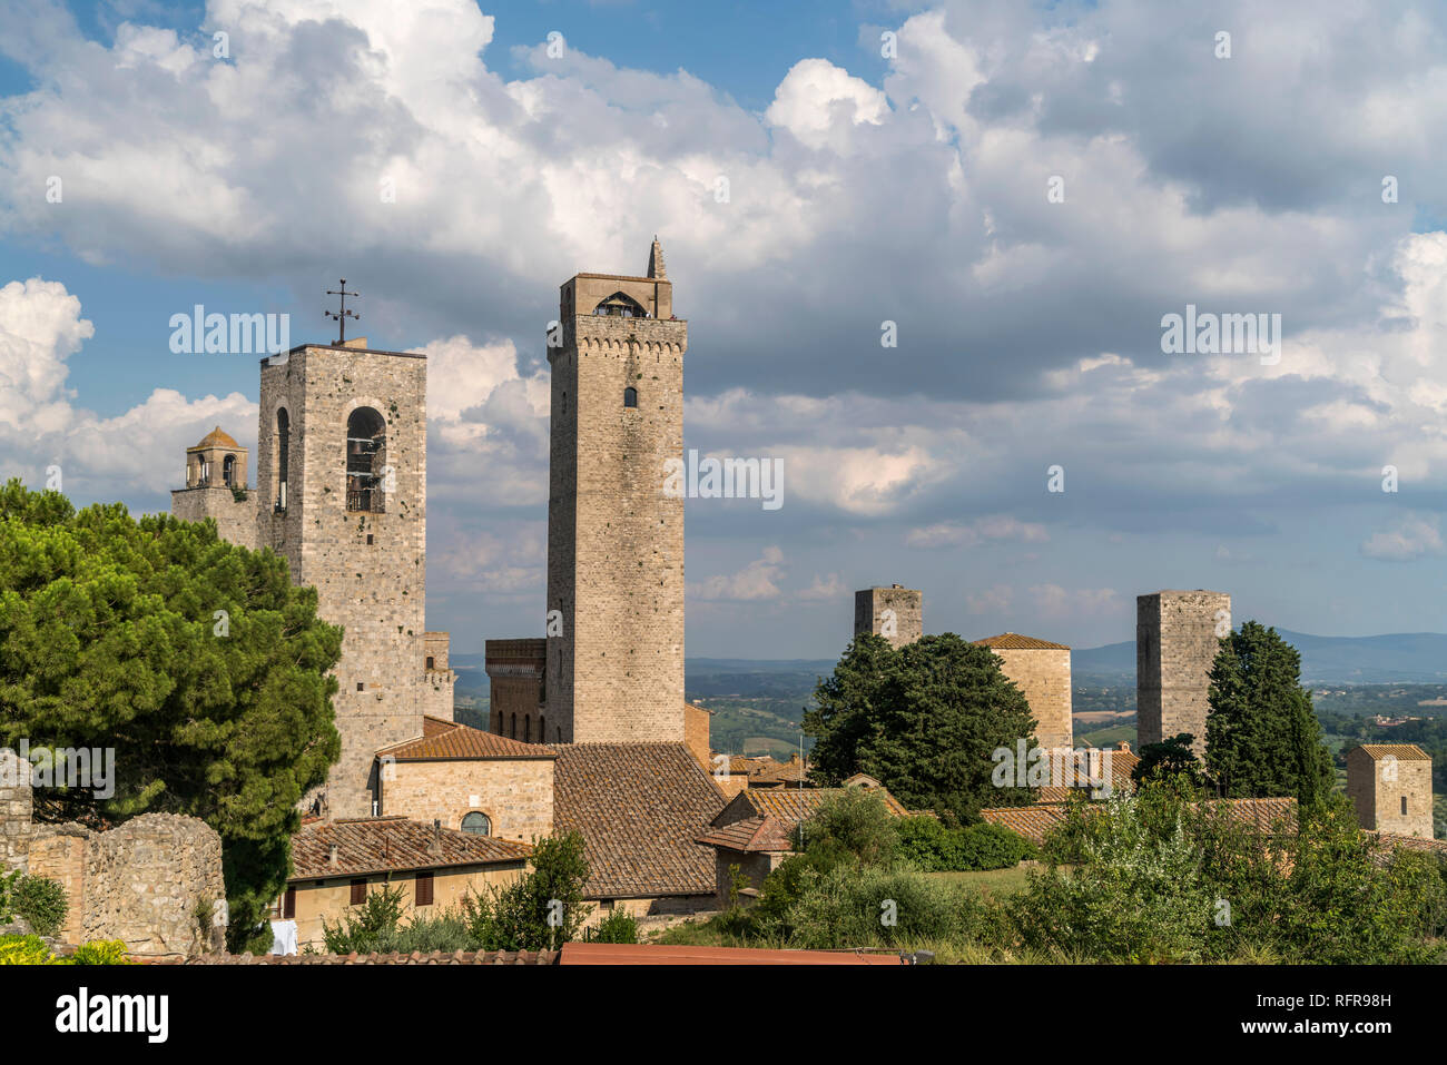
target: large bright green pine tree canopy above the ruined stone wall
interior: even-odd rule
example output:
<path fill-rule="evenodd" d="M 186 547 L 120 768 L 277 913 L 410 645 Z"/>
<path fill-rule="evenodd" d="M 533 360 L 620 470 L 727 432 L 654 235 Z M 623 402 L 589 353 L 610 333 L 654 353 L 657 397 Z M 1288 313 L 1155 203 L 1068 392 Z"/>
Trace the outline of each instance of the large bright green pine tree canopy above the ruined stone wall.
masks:
<path fill-rule="evenodd" d="M 340 651 L 285 559 L 214 522 L 0 489 L 0 744 L 114 750 L 114 794 L 46 796 L 59 816 L 211 825 L 233 928 L 285 884 L 297 805 L 340 752 Z"/>

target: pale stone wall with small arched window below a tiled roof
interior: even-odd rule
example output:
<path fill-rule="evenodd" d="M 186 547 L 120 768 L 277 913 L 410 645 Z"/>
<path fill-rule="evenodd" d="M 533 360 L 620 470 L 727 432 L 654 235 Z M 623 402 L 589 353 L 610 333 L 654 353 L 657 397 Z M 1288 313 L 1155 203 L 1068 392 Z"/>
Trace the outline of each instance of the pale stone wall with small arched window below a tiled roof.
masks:
<path fill-rule="evenodd" d="M 463 829 L 478 812 L 488 835 L 531 844 L 553 832 L 553 760 L 396 761 L 381 773 L 381 813 Z"/>

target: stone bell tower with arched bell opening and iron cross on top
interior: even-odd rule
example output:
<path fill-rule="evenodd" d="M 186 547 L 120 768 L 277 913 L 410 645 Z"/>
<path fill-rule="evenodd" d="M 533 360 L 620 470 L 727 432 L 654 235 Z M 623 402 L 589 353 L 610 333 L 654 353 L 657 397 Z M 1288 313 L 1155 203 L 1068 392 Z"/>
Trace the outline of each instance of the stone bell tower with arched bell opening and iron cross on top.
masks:
<path fill-rule="evenodd" d="M 427 357 L 369 350 L 366 337 L 269 356 L 259 423 L 258 544 L 346 627 L 326 812 L 368 816 L 378 748 L 423 735 L 424 712 L 451 719 L 446 634 L 424 625 Z"/>

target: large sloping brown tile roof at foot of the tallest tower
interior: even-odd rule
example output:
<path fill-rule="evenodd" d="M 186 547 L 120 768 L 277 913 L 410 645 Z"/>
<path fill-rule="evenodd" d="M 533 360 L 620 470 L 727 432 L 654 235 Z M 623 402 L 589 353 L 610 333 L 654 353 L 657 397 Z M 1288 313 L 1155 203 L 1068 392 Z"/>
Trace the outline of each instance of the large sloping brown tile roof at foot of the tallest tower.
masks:
<path fill-rule="evenodd" d="M 713 894 L 713 852 L 696 842 L 724 794 L 683 744 L 557 744 L 554 831 L 582 832 L 587 899 Z"/>

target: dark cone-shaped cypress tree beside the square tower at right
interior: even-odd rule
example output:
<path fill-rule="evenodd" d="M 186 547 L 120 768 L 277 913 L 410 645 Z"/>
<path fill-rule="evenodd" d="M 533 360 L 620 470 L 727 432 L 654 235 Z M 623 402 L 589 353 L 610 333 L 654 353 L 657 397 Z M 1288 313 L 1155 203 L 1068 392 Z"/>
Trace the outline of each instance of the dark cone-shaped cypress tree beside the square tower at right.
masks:
<path fill-rule="evenodd" d="M 1221 794 L 1323 800 L 1331 755 L 1301 686 L 1301 654 L 1276 629 L 1247 621 L 1221 637 L 1211 667 L 1205 768 Z"/>

